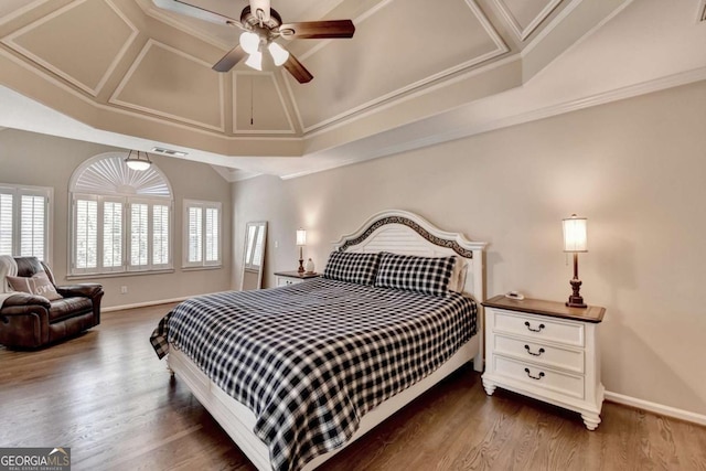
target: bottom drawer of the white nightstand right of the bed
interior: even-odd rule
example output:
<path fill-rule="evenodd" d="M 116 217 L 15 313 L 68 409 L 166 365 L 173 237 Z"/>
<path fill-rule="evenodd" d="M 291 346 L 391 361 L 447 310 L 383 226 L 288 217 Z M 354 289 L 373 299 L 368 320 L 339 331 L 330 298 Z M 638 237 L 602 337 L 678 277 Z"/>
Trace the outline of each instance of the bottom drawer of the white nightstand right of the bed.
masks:
<path fill-rule="evenodd" d="M 499 375 L 518 381 L 535 388 L 584 398 L 584 376 L 559 373 L 531 363 L 517 362 L 504 356 L 494 356 L 494 370 Z"/>

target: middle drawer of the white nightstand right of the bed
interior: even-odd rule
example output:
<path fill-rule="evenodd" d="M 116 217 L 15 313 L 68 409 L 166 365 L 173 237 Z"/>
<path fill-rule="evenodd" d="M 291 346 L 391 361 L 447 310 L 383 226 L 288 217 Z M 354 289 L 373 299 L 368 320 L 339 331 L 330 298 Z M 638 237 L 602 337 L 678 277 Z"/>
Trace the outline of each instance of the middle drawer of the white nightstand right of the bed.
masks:
<path fill-rule="evenodd" d="M 513 339 L 505 335 L 493 335 L 493 352 L 536 364 L 584 373 L 584 351 L 568 350 L 531 340 Z"/>

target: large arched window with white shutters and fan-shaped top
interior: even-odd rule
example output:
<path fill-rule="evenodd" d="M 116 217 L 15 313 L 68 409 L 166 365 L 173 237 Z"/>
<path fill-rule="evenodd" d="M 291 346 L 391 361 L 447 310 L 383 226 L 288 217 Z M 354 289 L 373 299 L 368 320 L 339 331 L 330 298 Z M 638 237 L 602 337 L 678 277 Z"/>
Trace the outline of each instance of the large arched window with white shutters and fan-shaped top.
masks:
<path fill-rule="evenodd" d="M 71 179 L 72 275 L 173 267 L 171 185 L 156 164 L 137 171 L 125 158 L 93 157 Z"/>

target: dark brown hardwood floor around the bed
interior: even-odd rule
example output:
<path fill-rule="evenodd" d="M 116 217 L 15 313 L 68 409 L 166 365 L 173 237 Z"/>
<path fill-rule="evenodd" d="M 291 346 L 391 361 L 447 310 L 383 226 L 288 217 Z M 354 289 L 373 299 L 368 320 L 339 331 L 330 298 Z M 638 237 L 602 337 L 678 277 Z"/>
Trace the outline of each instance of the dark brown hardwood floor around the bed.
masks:
<path fill-rule="evenodd" d="M 253 470 L 158 361 L 171 306 L 104 313 L 38 352 L 0 347 L 0 446 L 71 447 L 74 470 Z M 325 470 L 706 470 L 706 428 L 611 403 L 588 431 L 574 413 L 467 367 L 325 463 Z"/>

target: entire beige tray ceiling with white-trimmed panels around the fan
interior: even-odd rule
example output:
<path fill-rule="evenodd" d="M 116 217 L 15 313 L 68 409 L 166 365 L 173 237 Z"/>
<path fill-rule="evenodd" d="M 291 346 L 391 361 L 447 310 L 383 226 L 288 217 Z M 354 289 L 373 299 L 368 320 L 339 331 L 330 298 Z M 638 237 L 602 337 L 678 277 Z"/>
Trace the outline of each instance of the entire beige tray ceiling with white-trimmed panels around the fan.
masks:
<path fill-rule="evenodd" d="M 268 55 L 217 73 L 240 33 L 223 15 L 248 3 L 0 0 L 0 126 L 292 176 L 706 74 L 689 47 L 706 0 L 271 0 L 285 22 L 352 19 L 355 34 L 263 38 L 307 84 Z"/>

